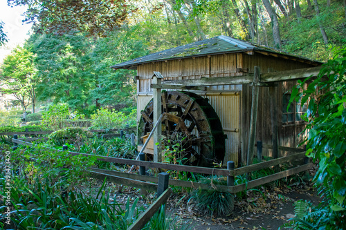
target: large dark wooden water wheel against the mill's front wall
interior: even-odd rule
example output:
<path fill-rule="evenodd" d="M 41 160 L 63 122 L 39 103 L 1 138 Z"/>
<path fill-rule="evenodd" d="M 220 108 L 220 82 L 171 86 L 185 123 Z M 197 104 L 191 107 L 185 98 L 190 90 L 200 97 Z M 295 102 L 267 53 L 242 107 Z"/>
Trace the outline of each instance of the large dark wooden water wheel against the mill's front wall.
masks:
<path fill-rule="evenodd" d="M 208 99 L 190 92 L 163 91 L 162 111 L 163 146 L 179 146 L 176 160 L 194 166 L 213 166 L 213 162 L 219 164 L 224 160 L 224 131 Z M 141 111 L 138 136 L 152 131 L 152 112 L 150 101 Z"/>

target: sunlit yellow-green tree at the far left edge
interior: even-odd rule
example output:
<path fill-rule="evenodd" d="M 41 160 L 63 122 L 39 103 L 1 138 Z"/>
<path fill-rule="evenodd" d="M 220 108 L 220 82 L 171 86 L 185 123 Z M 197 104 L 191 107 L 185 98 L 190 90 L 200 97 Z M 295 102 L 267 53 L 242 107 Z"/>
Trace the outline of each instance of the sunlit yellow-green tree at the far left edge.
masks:
<path fill-rule="evenodd" d="M 24 111 L 31 103 L 35 113 L 36 70 L 33 52 L 17 46 L 3 59 L 1 70 L 1 92 L 17 98 Z"/>

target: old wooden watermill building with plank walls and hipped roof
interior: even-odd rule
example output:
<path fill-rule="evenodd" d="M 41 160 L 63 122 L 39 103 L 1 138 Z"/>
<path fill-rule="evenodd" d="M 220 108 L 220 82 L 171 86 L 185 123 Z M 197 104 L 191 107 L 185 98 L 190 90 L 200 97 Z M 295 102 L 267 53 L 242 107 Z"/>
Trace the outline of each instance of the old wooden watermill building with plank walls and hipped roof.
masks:
<path fill-rule="evenodd" d="M 253 75 L 260 68 L 258 87 L 257 128 L 255 140 L 273 144 L 273 126 L 277 126 L 280 146 L 296 147 L 304 129 L 301 118 L 306 105 L 293 104 L 287 111 L 290 90 L 295 77 L 275 77 L 275 73 L 320 66 L 322 63 L 289 55 L 226 36 L 213 37 L 185 46 L 138 57 L 111 68 L 137 70 L 138 120 L 152 99 L 152 76 L 158 71 L 164 77 L 162 88 L 190 90 L 209 103 L 219 116 L 227 135 L 224 162 L 246 161 L 250 135 Z M 313 70 L 313 69 L 312 69 Z M 294 72 L 294 71 L 293 71 Z M 293 80 L 291 80 L 291 78 Z M 267 82 L 267 83 L 266 83 Z M 275 121 L 271 114 L 275 106 Z M 273 112 L 273 111 L 272 111 Z M 271 156 L 271 151 L 264 151 Z"/>

